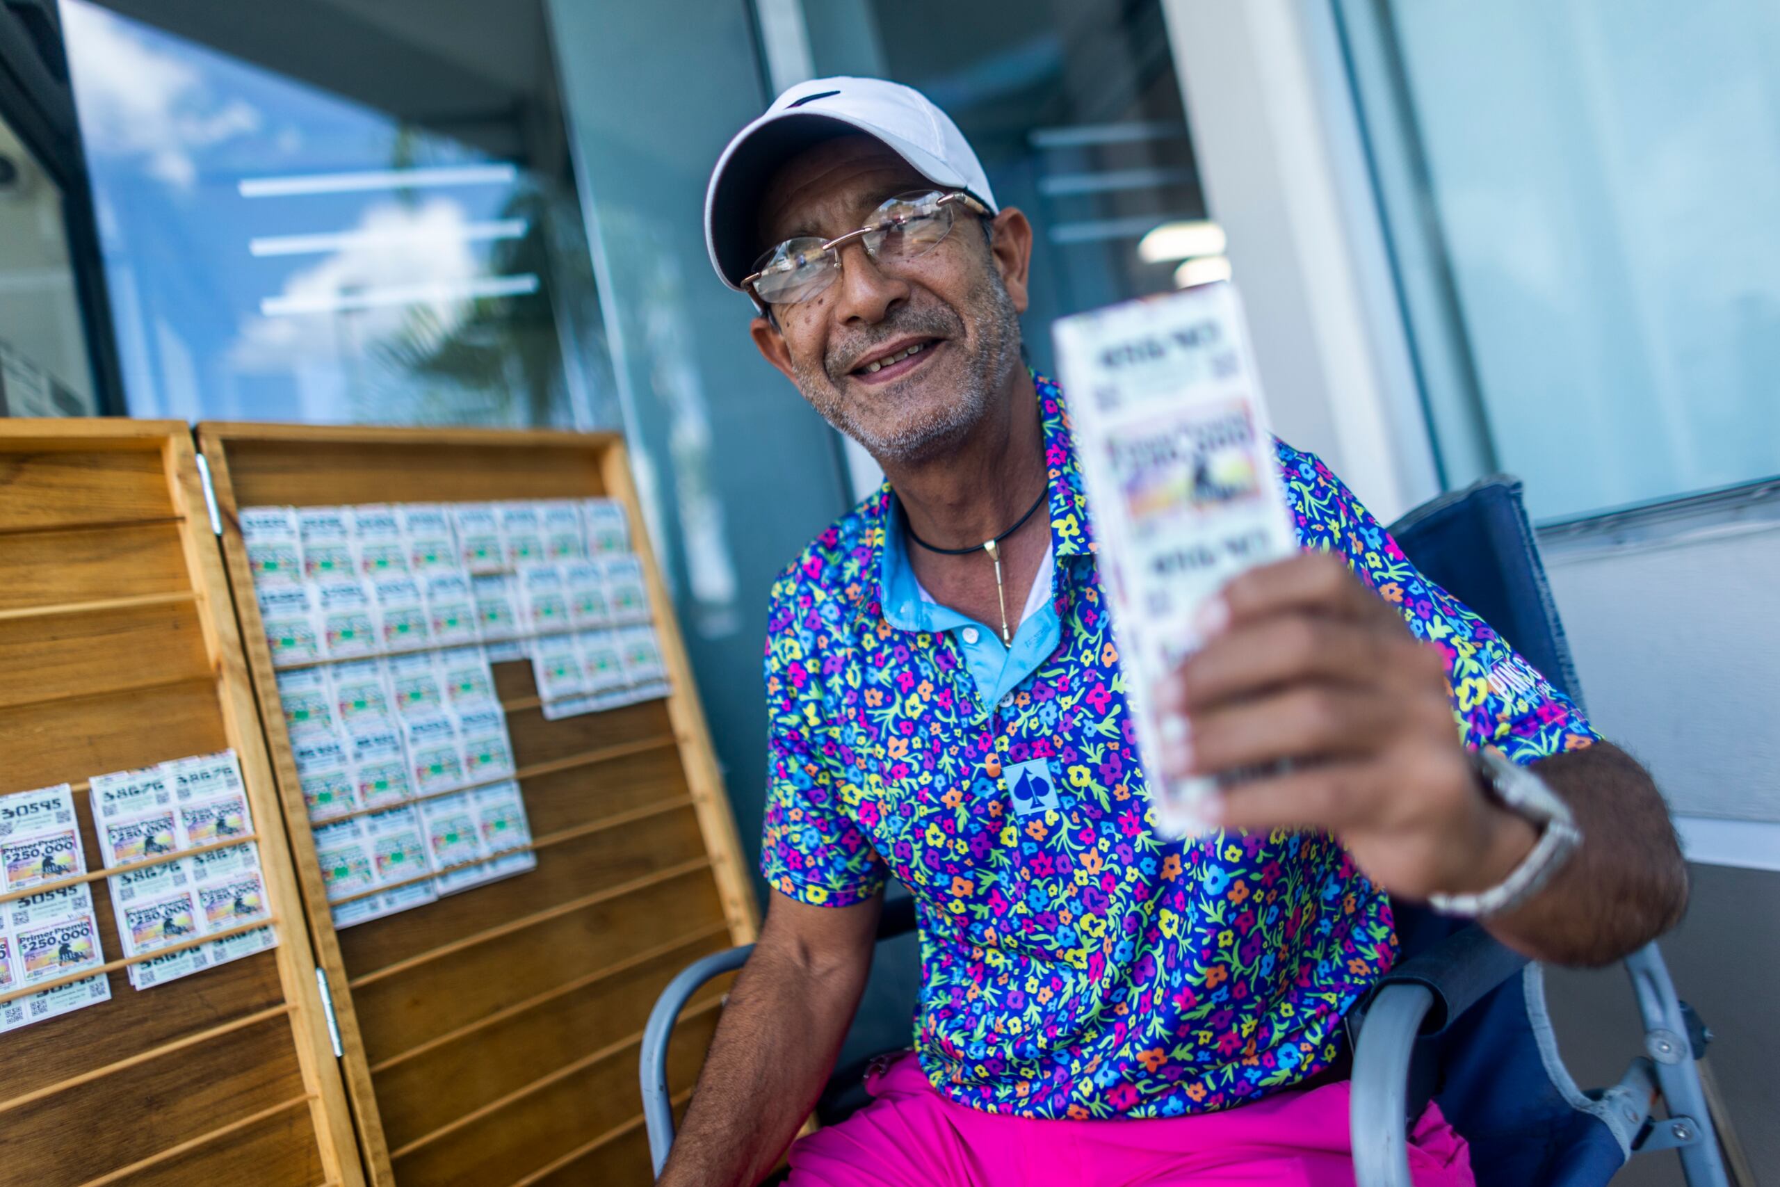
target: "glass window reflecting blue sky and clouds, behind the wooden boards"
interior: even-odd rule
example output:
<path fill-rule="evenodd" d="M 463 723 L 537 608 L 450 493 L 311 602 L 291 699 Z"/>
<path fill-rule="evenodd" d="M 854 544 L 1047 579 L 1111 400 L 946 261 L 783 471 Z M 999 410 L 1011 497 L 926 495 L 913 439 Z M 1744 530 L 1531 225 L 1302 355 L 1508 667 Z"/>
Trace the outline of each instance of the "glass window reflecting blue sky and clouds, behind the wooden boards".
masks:
<path fill-rule="evenodd" d="M 62 28 L 134 415 L 616 420 L 536 4 L 119 7 Z"/>

